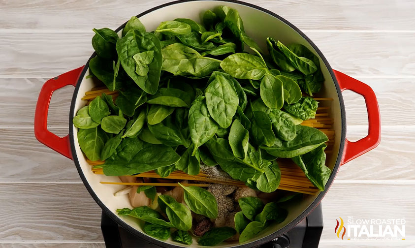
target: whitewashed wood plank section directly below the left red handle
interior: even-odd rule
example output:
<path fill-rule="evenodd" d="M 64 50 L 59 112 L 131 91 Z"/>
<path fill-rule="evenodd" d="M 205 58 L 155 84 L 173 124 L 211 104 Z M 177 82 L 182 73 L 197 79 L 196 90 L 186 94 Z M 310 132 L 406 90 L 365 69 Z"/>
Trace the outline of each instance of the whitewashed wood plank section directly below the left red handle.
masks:
<path fill-rule="evenodd" d="M 65 129 L 51 131 L 61 136 L 67 133 Z M 73 161 L 38 142 L 32 128 L 0 129 L 0 137 L 0 181 L 82 183 Z"/>

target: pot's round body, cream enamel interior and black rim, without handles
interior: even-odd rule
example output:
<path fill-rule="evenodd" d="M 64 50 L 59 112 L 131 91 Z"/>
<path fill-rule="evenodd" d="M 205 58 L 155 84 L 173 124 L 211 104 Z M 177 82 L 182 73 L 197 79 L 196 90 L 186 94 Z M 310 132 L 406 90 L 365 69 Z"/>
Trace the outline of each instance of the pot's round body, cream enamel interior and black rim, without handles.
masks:
<path fill-rule="evenodd" d="M 320 192 L 318 195 L 306 196 L 300 204 L 290 206 L 288 208 L 288 217 L 280 224 L 274 224 L 266 228 L 264 232 L 258 235 L 255 239 L 245 243 L 223 243 L 218 247 L 254 247 L 271 239 L 280 236 L 287 232 L 290 228 L 295 226 L 299 221 L 306 217 L 314 207 L 319 204 L 319 201 L 328 190 L 331 185 L 339 164 L 341 155 L 343 152 L 343 141 L 346 132 L 345 127 L 345 115 L 343 99 L 334 77 L 333 71 L 328 65 L 327 61 L 321 55 L 316 46 L 298 29 L 289 24 L 283 18 L 271 13 L 267 10 L 261 9 L 257 6 L 235 1 L 216 1 L 216 0 L 200 0 L 200 1 L 179 1 L 161 5 L 159 7 L 148 10 L 138 15 L 140 21 L 145 25 L 147 31 L 155 30 L 160 22 L 166 20 L 173 20 L 175 18 L 190 18 L 200 22 L 200 17 L 207 9 L 213 9 L 218 5 L 227 5 L 235 8 L 239 11 L 242 20 L 244 21 L 244 27 L 246 33 L 252 37 L 261 49 L 266 52 L 265 40 L 267 37 L 273 37 L 275 40 L 280 40 L 284 44 L 299 43 L 306 46 L 314 54 L 320 58 L 321 70 L 325 78 L 323 90 L 318 94 L 319 97 L 333 98 L 333 101 L 322 101 L 319 106 L 330 106 L 331 118 L 334 118 L 333 129 L 335 130 L 335 140 L 333 153 L 327 155 L 326 165 L 332 170 L 332 175 L 329 182 L 326 185 L 326 190 Z M 278 13 L 277 13 L 278 14 Z M 284 13 L 281 13 L 284 14 Z M 128 17 L 126 17 L 128 20 Z M 123 27 L 123 26 L 122 26 Z M 121 35 L 122 27 L 120 27 L 118 33 Z M 112 28 L 112 27 L 110 27 Z M 93 55 L 93 57 L 95 54 Z M 89 75 L 88 63 L 86 64 L 83 72 L 80 75 L 78 84 L 75 89 L 75 93 L 72 99 L 71 112 L 69 116 L 70 122 L 70 137 L 71 137 L 71 149 L 73 159 L 77 165 L 79 174 L 85 183 L 85 186 L 90 191 L 96 202 L 103 208 L 103 210 L 114 220 L 116 220 L 121 226 L 126 228 L 133 234 L 149 240 L 150 242 L 163 247 L 183 247 L 181 244 L 167 240 L 165 242 L 153 239 L 147 236 L 141 228 L 142 223 L 138 222 L 132 217 L 118 217 L 116 210 L 118 208 L 131 208 L 128 201 L 128 195 L 114 196 L 114 193 L 124 186 L 116 185 L 102 185 L 100 181 L 112 181 L 120 182 L 118 177 L 106 177 L 103 175 L 93 174 L 91 166 L 87 163 L 86 158 L 82 154 L 82 151 L 78 145 L 77 128 L 72 125 L 72 118 L 75 113 L 85 106 L 86 101 L 81 98 L 85 92 L 90 91 L 95 87 L 92 78 L 86 79 Z M 75 203 L 76 204 L 76 203 Z M 198 247 L 196 240 L 193 241 L 191 247 Z"/>

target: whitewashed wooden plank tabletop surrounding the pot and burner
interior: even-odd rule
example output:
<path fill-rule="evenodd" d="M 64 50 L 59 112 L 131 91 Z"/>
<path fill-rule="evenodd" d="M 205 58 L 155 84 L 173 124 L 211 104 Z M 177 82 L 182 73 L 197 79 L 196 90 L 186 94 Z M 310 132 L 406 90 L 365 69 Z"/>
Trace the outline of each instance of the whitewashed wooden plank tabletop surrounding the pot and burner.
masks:
<path fill-rule="evenodd" d="M 100 210 L 71 160 L 38 143 L 42 84 L 86 62 L 92 28 L 116 28 L 167 0 L 0 0 L 0 247 L 104 247 Z M 372 87 L 382 142 L 341 167 L 322 202 L 320 247 L 415 247 L 415 1 L 250 0 L 304 31 L 331 66 Z M 57 91 L 48 126 L 67 133 L 73 88 Z M 361 96 L 344 92 L 348 138 L 367 133 Z M 76 201 L 78 204 L 74 205 Z M 405 217 L 406 240 L 339 241 L 335 219 Z"/>

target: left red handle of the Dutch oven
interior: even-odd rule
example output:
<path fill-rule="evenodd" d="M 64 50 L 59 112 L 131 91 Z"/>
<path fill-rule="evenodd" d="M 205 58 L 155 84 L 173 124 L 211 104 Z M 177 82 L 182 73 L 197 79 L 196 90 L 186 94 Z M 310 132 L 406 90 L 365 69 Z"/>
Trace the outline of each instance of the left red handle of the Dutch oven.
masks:
<path fill-rule="evenodd" d="M 72 154 L 69 148 L 69 135 L 59 137 L 48 130 L 48 110 L 52 93 L 66 85 L 75 86 L 83 68 L 84 66 L 81 66 L 46 81 L 40 90 L 34 112 L 34 136 L 36 139 L 70 159 L 72 159 Z"/>

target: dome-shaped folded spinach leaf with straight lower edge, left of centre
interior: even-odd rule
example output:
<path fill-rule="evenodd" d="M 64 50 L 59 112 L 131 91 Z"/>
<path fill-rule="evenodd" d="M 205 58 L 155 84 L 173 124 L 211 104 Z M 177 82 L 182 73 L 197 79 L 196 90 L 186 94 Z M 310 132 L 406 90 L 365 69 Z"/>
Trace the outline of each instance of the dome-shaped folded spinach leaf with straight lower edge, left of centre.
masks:
<path fill-rule="evenodd" d="M 170 107 L 190 107 L 191 97 L 188 93 L 174 88 L 160 88 L 148 100 L 149 104 L 160 104 Z"/>

